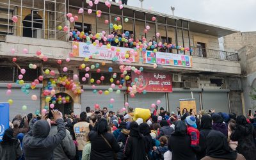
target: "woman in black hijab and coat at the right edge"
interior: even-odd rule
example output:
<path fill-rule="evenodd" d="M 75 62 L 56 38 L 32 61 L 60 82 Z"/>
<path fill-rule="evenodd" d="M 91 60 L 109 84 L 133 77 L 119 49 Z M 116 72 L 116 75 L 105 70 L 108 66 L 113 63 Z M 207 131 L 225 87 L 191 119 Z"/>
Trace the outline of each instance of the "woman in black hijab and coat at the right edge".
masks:
<path fill-rule="evenodd" d="M 253 138 L 253 126 L 246 121 L 245 116 L 237 116 L 236 127 L 230 135 L 230 140 L 238 141 L 237 152 L 246 159 L 256 159 L 256 147 Z"/>

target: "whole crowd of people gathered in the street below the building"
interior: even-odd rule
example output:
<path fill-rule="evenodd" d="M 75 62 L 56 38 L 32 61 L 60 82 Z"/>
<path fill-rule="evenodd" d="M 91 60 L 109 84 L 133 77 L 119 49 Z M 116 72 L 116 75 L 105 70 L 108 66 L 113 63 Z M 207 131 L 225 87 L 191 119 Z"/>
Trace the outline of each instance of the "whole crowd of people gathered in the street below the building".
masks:
<path fill-rule="evenodd" d="M 15 116 L 0 142 L 0 159 L 256 159 L 256 117 L 201 110 L 150 118 L 108 108 L 62 115 Z"/>

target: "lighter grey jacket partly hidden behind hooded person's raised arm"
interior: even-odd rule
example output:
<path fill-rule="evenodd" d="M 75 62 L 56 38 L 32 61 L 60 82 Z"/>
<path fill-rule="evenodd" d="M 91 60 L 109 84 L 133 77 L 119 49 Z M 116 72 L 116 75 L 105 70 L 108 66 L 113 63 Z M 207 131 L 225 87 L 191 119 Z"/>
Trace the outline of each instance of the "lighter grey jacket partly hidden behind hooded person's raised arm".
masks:
<path fill-rule="evenodd" d="M 56 125 L 51 126 L 49 136 L 54 136 L 58 133 Z M 54 149 L 54 160 L 68 160 L 76 156 L 76 145 L 74 144 L 70 132 L 66 130 L 66 136 L 61 143 Z"/>

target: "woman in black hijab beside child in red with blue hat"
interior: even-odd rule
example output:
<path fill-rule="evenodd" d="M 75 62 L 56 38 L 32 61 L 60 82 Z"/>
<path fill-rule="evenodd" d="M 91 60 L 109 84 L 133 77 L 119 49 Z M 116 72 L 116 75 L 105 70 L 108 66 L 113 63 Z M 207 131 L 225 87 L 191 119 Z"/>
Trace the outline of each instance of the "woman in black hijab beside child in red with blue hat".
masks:
<path fill-rule="evenodd" d="M 185 122 L 175 122 L 175 130 L 168 140 L 168 148 L 172 152 L 172 160 L 195 160 L 196 154 L 190 147 L 191 139 L 187 134 Z"/>

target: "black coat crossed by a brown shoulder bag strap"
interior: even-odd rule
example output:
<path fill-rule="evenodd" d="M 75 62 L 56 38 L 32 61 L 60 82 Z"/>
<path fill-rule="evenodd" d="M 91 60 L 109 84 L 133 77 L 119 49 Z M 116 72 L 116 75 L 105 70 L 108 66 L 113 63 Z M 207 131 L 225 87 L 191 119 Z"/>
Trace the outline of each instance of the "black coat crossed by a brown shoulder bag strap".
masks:
<path fill-rule="evenodd" d="M 89 133 L 89 140 L 91 141 L 91 160 L 104 159 L 104 160 L 113 160 L 114 153 L 120 150 L 118 143 L 116 142 L 113 134 L 105 132 L 102 134 L 104 138 L 108 141 L 112 148 L 109 147 L 108 143 L 98 134 L 96 131 L 91 131 Z"/>

